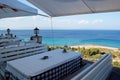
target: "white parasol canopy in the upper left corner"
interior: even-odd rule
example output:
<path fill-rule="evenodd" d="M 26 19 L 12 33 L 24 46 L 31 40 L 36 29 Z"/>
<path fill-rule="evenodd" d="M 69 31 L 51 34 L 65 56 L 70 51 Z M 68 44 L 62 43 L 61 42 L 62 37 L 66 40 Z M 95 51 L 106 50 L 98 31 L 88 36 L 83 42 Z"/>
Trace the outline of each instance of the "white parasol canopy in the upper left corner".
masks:
<path fill-rule="evenodd" d="M 0 18 L 31 16 L 38 14 L 37 9 L 17 0 L 0 0 Z"/>

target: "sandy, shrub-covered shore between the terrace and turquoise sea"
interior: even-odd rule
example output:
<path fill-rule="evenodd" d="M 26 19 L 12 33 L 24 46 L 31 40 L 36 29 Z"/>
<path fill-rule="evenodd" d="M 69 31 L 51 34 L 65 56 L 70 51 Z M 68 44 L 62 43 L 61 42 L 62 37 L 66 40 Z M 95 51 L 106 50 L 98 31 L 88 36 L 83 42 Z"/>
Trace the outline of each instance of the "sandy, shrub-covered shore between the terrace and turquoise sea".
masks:
<path fill-rule="evenodd" d="M 63 49 L 63 46 L 49 46 L 48 50 L 54 50 L 61 48 Z M 113 55 L 113 60 L 115 61 L 120 61 L 120 49 L 118 51 L 114 51 L 111 49 L 105 49 L 105 48 L 89 48 L 86 49 L 84 47 L 68 47 L 68 50 L 76 51 L 76 52 L 81 52 L 83 54 L 83 58 L 86 60 L 90 61 L 96 61 L 98 60 L 103 54 L 105 53 L 111 53 Z M 115 67 L 120 67 L 120 62 L 113 62 L 113 66 Z"/>

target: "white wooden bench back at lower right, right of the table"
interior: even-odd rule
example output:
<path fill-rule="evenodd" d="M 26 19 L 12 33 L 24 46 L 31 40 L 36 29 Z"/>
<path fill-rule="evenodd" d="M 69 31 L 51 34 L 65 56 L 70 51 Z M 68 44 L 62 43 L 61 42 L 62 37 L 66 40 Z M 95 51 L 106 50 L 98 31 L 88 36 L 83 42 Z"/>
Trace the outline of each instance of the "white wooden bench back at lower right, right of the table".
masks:
<path fill-rule="evenodd" d="M 105 80 L 112 70 L 112 56 L 105 54 L 71 80 Z"/>

